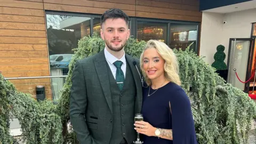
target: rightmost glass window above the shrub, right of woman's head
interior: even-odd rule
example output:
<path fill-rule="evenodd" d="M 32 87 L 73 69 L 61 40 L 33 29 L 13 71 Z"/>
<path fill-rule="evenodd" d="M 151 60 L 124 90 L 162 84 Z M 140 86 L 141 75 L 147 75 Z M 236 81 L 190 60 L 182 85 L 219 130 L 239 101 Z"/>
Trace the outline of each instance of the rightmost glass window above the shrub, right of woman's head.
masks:
<path fill-rule="evenodd" d="M 169 37 L 171 49 L 185 50 L 190 45 L 190 49 L 196 50 L 197 25 L 171 23 Z"/>

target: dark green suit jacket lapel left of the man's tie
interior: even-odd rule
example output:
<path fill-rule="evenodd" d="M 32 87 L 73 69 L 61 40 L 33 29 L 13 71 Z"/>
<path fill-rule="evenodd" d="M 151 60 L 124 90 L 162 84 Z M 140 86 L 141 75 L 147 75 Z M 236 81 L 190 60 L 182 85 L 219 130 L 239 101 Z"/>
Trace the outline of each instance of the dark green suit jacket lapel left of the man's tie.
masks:
<path fill-rule="evenodd" d="M 105 59 L 104 50 L 99 52 L 98 57 L 95 59 L 94 65 L 95 65 L 95 69 L 97 71 L 97 74 L 98 74 L 98 77 L 100 80 L 102 90 L 103 90 L 105 98 L 107 100 L 109 109 L 110 109 L 111 113 L 113 114 L 109 77 L 108 77 L 108 73 L 107 73 L 108 63 L 106 62 L 106 59 Z"/>

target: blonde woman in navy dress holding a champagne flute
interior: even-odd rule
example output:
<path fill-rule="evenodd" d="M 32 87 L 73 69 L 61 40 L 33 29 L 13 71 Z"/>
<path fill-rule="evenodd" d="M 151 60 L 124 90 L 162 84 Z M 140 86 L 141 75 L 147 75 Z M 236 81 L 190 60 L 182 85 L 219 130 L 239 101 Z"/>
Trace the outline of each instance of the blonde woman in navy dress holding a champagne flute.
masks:
<path fill-rule="evenodd" d="M 143 121 L 135 130 L 150 143 L 194 144 L 196 133 L 189 98 L 180 87 L 174 52 L 163 42 L 148 41 L 140 57 L 148 87 L 143 87 Z"/>

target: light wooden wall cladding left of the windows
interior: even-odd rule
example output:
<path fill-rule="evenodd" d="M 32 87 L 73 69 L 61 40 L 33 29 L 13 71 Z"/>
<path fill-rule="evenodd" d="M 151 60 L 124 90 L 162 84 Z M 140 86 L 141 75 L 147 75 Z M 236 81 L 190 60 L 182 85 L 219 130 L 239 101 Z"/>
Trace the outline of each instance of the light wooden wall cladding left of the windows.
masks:
<path fill-rule="evenodd" d="M 43 0 L 0 0 L 0 70 L 4 77 L 49 76 Z M 50 78 L 10 81 L 33 98 L 44 85 L 52 97 Z"/>

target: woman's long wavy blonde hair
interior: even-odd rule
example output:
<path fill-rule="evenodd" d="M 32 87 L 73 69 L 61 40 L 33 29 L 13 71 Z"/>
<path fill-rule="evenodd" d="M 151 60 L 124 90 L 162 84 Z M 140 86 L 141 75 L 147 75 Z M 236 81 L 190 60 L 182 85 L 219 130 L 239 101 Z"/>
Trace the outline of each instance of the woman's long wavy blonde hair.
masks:
<path fill-rule="evenodd" d="M 142 74 L 145 77 L 145 81 L 147 85 L 151 85 L 150 79 L 147 77 L 145 70 L 143 69 L 143 55 L 147 49 L 156 49 L 159 55 L 164 59 L 164 76 L 165 79 L 169 82 L 173 82 L 177 85 L 181 85 L 180 77 L 179 77 L 179 63 L 175 53 L 167 46 L 165 43 L 157 41 L 157 40 L 149 40 L 143 52 L 140 55 L 140 68 L 142 70 Z"/>

